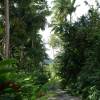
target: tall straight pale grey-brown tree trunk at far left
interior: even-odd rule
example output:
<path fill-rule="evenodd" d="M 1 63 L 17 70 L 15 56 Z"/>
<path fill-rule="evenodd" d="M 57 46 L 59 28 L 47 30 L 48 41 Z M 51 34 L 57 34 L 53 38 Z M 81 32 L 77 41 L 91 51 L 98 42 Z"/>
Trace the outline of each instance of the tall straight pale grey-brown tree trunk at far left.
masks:
<path fill-rule="evenodd" d="M 9 50 L 9 40 L 10 40 L 10 24 L 9 24 L 9 0 L 5 0 L 5 58 L 9 58 L 10 50 Z"/>

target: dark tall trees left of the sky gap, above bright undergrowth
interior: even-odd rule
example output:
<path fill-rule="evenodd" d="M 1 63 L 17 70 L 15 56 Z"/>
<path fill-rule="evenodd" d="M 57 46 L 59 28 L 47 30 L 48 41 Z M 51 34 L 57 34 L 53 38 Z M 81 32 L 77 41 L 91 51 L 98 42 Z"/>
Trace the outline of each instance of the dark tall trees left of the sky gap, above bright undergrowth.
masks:
<path fill-rule="evenodd" d="M 0 5 L 0 25 L 2 25 L 5 16 L 4 1 L 1 0 Z M 18 60 L 18 66 L 22 69 L 41 66 L 46 59 L 46 53 L 41 35 L 38 33 L 40 29 L 44 29 L 45 16 L 49 14 L 47 2 L 45 0 L 11 0 L 9 9 L 10 56 Z M 1 34 L 1 39 L 4 37 L 3 35 L 4 32 Z M 8 44 L 8 42 L 6 43 Z"/>

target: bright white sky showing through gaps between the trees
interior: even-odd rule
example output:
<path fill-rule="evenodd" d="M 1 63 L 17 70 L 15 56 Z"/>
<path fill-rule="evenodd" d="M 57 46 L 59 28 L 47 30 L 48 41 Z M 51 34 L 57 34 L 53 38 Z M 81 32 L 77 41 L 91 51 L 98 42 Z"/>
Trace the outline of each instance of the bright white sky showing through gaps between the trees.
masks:
<path fill-rule="evenodd" d="M 53 0 L 47 0 L 49 7 L 53 6 L 52 1 Z M 75 5 L 80 5 L 80 6 L 76 9 L 76 12 L 73 14 L 73 20 L 74 21 L 77 20 L 80 16 L 87 14 L 87 11 L 88 11 L 89 7 L 85 5 L 84 1 L 87 1 L 90 5 L 94 5 L 95 6 L 95 0 L 76 0 Z M 48 23 L 51 22 L 51 16 L 47 17 L 47 21 L 48 21 Z M 42 36 L 43 36 L 42 39 L 43 39 L 43 41 L 45 43 L 45 47 L 47 48 L 47 50 L 46 50 L 47 54 L 49 55 L 50 58 L 53 59 L 54 58 L 53 50 L 48 45 L 48 41 L 50 39 L 50 35 L 52 34 L 51 28 L 48 27 L 48 25 L 46 25 L 45 30 L 44 31 L 40 31 L 40 34 L 42 34 Z"/>

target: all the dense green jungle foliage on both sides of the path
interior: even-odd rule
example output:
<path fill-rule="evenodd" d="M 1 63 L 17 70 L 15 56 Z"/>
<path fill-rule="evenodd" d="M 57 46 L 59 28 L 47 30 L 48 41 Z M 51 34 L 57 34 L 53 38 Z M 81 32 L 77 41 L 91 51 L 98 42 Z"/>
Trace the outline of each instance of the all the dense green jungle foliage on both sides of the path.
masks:
<path fill-rule="evenodd" d="M 76 0 L 54 0 L 49 45 L 59 53 L 52 61 L 39 34 L 50 14 L 47 1 L 9 0 L 6 59 L 6 5 L 0 0 L 0 100 L 37 100 L 59 83 L 83 100 L 100 99 L 100 5 L 84 3 L 88 13 L 74 21 Z"/>

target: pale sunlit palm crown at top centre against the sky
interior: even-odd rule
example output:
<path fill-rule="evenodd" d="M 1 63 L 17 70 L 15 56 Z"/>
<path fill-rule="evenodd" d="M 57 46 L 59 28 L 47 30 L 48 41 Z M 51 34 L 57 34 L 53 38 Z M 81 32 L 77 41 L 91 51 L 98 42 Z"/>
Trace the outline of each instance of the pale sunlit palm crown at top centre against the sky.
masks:
<path fill-rule="evenodd" d="M 53 10 L 56 20 L 65 22 L 67 20 L 67 16 L 70 15 L 71 23 L 72 13 L 77 7 L 74 7 L 75 2 L 76 0 L 54 0 Z"/>

